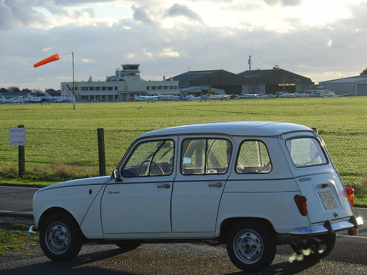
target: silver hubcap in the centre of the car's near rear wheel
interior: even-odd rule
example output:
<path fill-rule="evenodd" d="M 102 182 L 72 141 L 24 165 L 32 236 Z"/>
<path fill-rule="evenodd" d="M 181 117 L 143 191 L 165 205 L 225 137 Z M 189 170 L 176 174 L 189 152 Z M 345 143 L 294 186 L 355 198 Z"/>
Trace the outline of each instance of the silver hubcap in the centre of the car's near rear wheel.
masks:
<path fill-rule="evenodd" d="M 251 230 L 240 230 L 233 239 L 233 250 L 240 261 L 255 263 L 262 256 L 264 244 L 260 235 Z"/>

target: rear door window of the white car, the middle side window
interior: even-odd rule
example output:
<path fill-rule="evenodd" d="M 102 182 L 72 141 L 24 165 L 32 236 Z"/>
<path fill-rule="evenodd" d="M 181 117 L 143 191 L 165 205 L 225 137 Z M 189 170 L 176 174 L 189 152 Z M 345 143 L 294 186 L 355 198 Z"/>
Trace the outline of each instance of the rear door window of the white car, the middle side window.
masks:
<path fill-rule="evenodd" d="M 232 144 L 224 139 L 195 138 L 182 141 L 183 175 L 224 174 L 231 159 Z"/>

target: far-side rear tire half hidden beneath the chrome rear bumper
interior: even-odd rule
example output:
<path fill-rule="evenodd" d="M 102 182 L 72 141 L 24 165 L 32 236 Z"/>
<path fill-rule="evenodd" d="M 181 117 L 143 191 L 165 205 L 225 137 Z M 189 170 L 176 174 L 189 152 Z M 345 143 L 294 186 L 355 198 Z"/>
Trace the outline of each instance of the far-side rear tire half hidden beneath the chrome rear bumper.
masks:
<path fill-rule="evenodd" d="M 302 254 L 304 259 L 322 259 L 328 256 L 331 251 L 333 251 L 337 236 L 334 232 L 319 235 L 317 238 L 320 240 L 320 242 L 311 240 L 308 241 L 308 243 L 291 244 L 291 248 L 298 255 Z"/>

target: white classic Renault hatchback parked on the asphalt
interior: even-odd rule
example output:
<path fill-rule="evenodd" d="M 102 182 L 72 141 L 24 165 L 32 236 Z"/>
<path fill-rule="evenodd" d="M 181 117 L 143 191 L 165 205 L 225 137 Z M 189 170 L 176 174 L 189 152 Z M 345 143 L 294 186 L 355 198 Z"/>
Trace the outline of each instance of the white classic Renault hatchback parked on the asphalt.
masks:
<path fill-rule="evenodd" d="M 72 259 L 88 241 L 122 252 L 141 243 L 226 244 L 246 271 L 270 265 L 276 245 L 320 259 L 335 232 L 358 232 L 316 131 L 281 122 L 215 122 L 140 135 L 111 177 L 42 188 L 33 198 L 43 252 Z"/>

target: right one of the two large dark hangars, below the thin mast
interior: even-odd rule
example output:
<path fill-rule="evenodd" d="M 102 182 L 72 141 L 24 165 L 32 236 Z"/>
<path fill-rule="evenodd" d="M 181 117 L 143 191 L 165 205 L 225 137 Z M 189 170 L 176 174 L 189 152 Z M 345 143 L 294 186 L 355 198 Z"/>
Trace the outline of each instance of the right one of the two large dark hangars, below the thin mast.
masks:
<path fill-rule="evenodd" d="M 239 76 L 244 78 L 242 94 L 293 94 L 313 89 L 310 78 L 280 69 L 255 69 L 244 71 Z"/>

